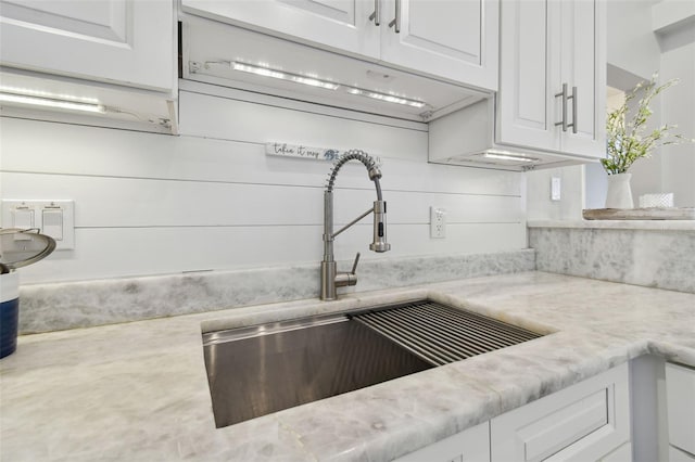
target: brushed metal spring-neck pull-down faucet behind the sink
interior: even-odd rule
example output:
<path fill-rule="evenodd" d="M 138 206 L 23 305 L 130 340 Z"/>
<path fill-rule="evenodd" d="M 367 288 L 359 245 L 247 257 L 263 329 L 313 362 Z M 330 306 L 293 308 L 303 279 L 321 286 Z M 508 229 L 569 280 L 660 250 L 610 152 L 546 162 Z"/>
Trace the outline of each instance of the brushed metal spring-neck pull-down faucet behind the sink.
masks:
<path fill-rule="evenodd" d="M 377 189 L 377 200 L 371 208 L 359 217 L 345 224 L 340 230 L 333 232 L 333 183 L 338 176 L 338 170 L 349 161 L 359 161 L 367 168 L 369 179 L 374 181 Z M 359 254 L 355 257 L 355 262 L 350 272 L 338 272 L 336 260 L 333 259 L 333 240 L 338 234 L 345 231 L 357 221 L 369 214 L 374 214 L 374 240 L 369 248 L 374 252 L 387 252 L 391 244 L 387 242 L 387 203 L 381 197 L 381 184 L 379 183 L 381 171 L 377 167 L 374 158 L 364 151 L 351 150 L 340 156 L 330 174 L 328 184 L 324 191 L 324 260 L 321 261 L 321 300 L 334 300 L 337 298 L 337 287 L 357 284 L 357 262 Z"/>

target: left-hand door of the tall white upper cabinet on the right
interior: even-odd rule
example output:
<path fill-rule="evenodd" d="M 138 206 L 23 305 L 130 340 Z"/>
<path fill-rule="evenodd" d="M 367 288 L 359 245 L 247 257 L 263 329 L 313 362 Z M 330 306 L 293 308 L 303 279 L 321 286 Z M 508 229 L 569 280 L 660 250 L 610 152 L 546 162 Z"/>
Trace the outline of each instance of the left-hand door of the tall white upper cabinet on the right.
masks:
<path fill-rule="evenodd" d="M 557 47 L 548 39 L 549 13 L 544 0 L 502 0 L 498 143 L 559 150 L 553 118 L 553 82 L 559 79 L 559 69 L 548 65 Z"/>

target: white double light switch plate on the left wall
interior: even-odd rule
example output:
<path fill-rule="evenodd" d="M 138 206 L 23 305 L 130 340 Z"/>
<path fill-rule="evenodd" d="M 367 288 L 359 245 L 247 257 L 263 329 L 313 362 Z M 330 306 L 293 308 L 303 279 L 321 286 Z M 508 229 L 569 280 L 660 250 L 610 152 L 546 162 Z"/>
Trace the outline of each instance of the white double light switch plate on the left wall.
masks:
<path fill-rule="evenodd" d="M 75 201 L 3 198 L 2 228 L 28 228 L 26 220 L 16 221 L 17 217 L 25 217 L 27 213 L 34 217 L 33 228 L 38 228 L 41 234 L 55 240 L 56 251 L 75 248 Z M 45 217 L 48 217 L 46 223 Z M 60 229 L 56 226 L 60 226 Z"/>

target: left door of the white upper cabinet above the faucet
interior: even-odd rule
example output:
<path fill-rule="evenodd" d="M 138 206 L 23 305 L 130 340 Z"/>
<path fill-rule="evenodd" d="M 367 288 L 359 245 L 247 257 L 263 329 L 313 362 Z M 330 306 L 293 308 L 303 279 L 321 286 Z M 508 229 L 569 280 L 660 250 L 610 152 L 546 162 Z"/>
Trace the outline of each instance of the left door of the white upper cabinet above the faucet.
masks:
<path fill-rule="evenodd" d="M 367 0 L 181 0 L 184 11 L 379 57 L 379 27 Z"/>

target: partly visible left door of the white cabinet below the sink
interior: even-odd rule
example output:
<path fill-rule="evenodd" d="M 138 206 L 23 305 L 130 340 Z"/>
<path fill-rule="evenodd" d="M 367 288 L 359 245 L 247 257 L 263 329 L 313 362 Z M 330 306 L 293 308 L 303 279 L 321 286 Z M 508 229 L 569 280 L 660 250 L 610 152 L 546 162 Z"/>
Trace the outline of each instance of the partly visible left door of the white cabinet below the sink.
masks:
<path fill-rule="evenodd" d="M 395 462 L 488 462 L 490 461 L 490 423 L 452 435 Z"/>

